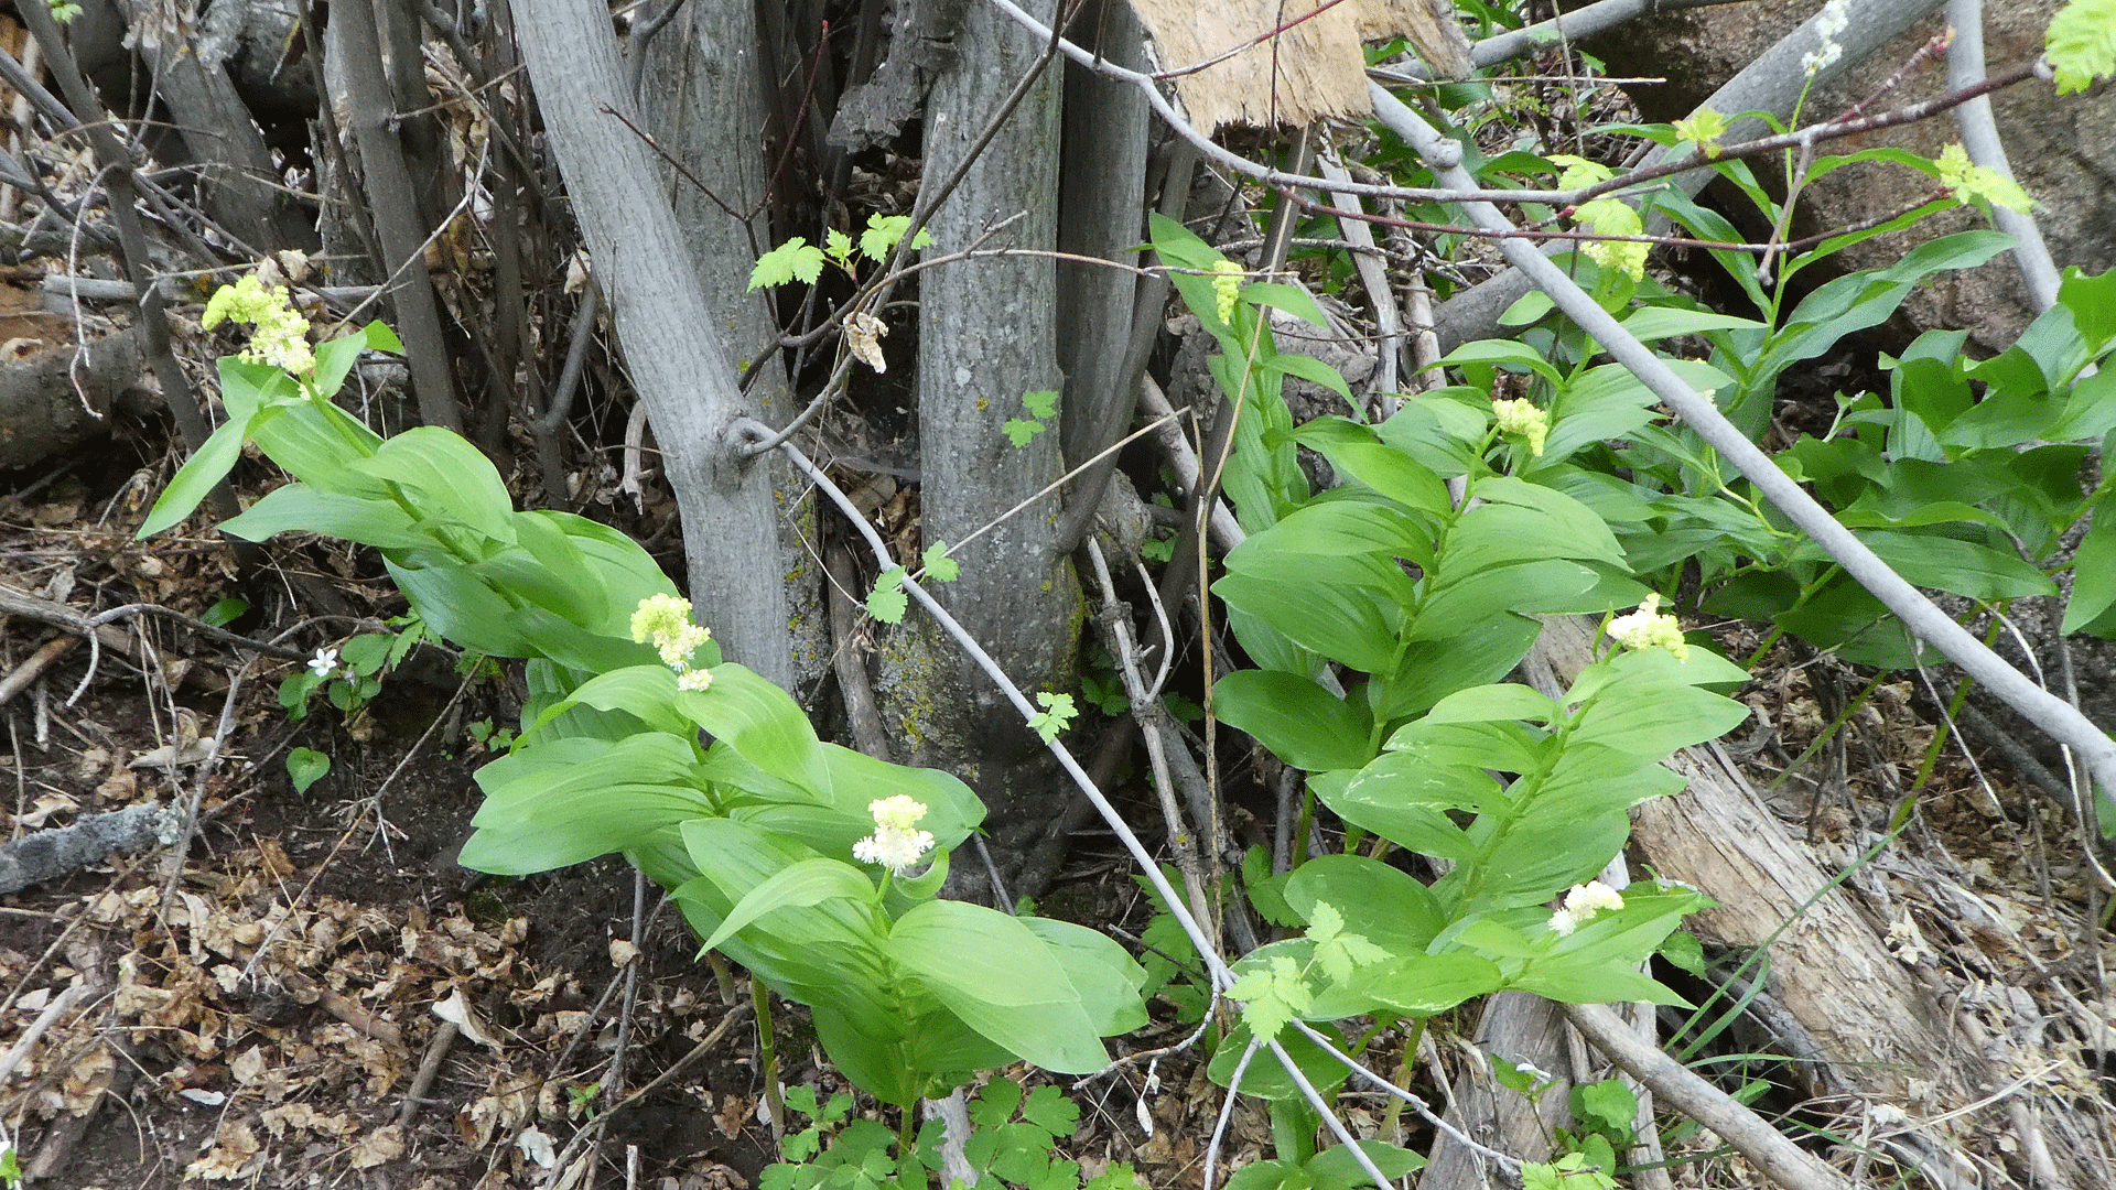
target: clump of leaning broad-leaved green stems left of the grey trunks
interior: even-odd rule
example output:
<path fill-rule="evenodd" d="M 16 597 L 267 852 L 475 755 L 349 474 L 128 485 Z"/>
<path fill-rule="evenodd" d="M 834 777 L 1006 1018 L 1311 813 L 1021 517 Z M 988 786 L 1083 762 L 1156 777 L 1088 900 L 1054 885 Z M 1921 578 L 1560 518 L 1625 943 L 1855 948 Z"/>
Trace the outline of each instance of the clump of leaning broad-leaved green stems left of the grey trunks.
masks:
<path fill-rule="evenodd" d="M 303 375 L 220 360 L 231 419 L 142 531 L 186 517 L 248 436 L 296 483 L 224 531 L 372 546 L 425 631 L 525 661 L 521 733 L 478 771 L 466 866 L 626 855 L 705 949 L 808 1004 L 836 1067 L 906 1120 L 918 1097 L 1018 1059 L 1098 1069 L 1100 1038 L 1145 1023 L 1145 972 L 1109 938 L 935 898 L 984 815 L 967 786 L 817 739 L 785 690 L 722 661 L 643 548 L 516 512 L 459 436 L 385 440 L 339 411 L 328 394 L 368 345 L 396 339 L 370 326 L 324 343 Z"/>

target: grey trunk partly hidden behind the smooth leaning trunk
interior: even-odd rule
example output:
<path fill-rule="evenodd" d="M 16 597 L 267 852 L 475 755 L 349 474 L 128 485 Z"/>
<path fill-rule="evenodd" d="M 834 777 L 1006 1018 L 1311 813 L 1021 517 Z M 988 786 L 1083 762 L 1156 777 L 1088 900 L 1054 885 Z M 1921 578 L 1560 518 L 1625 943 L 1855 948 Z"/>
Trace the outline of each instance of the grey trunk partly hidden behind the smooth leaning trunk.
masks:
<path fill-rule="evenodd" d="M 639 110 L 647 121 L 643 127 L 690 174 L 686 178 L 667 161 L 656 165 L 664 201 L 675 212 L 690 252 L 698 292 L 711 311 L 711 328 L 736 368 L 747 368 L 779 337 L 770 290 L 749 290 L 751 265 L 774 241 L 768 197 L 781 148 L 758 136 L 768 123 L 770 106 L 758 64 L 751 4 L 686 4 L 647 47 L 639 87 Z M 713 193 L 700 191 L 698 182 Z M 859 229 L 849 231 L 857 235 Z M 819 237 L 810 231 L 808 239 Z M 783 426 L 794 417 L 798 404 L 787 383 L 785 356 L 758 371 L 747 400 L 768 426 Z M 813 553 L 815 508 L 777 451 L 755 466 L 770 472 L 781 512 L 777 557 L 787 582 L 791 682 L 808 688 L 829 667 L 829 616 L 819 599 Z"/>

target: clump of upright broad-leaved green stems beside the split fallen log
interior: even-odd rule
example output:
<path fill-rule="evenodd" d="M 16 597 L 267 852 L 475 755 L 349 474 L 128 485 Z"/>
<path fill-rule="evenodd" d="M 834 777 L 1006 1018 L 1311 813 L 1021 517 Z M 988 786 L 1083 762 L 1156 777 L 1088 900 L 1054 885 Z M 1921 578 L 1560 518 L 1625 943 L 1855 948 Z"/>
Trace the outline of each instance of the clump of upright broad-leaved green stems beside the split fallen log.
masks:
<path fill-rule="evenodd" d="M 1456 362 L 1526 364 L 1564 387 L 1562 413 L 1492 402 L 1477 385 L 1411 396 L 1378 428 L 1342 417 L 1295 428 L 1272 381 L 1306 364 L 1270 347 L 1257 313 L 1293 299 L 1240 286 L 1229 301 L 1210 248 L 1170 222 L 1155 235 L 1164 260 L 1193 269 L 1176 286 L 1221 335 L 1212 373 L 1244 402 L 1227 489 L 1251 536 L 1212 593 L 1259 667 L 1221 678 L 1215 709 L 1308 771 L 1310 796 L 1350 828 L 1452 866 L 1426 885 L 1373 855 L 1299 862 L 1272 891 L 1306 932 L 1236 963 L 1229 995 L 1246 1002 L 1236 1040 L 1301 1042 L 1282 1033 L 1295 1018 L 1424 1018 L 1500 989 L 1680 1002 L 1638 968 L 1708 900 L 1682 885 L 1617 894 L 1591 881 L 1623 847 L 1629 807 L 1680 788 L 1661 758 L 1746 718 L 1708 686 L 1748 675 L 1657 614 L 1585 502 L 1591 487 L 1562 466 L 1646 423 L 1648 396 L 1627 373 L 1566 375 L 1528 347 L 1479 345 Z M 1297 445 L 1342 487 L 1310 493 Z M 1447 479 L 1464 481 L 1469 500 L 1458 504 Z M 1585 667 L 1566 695 L 1492 684 L 1526 654 L 1534 614 L 1634 603 L 1640 612 L 1608 625 L 1623 652 Z M 1342 667 L 1342 695 L 1320 682 L 1329 665 Z M 1232 1080 L 1244 1044 L 1221 1046 L 1215 1078 Z M 1318 1082 L 1337 1080 L 1325 1065 Z M 1244 1090 L 1291 1101 L 1284 1080 Z"/>

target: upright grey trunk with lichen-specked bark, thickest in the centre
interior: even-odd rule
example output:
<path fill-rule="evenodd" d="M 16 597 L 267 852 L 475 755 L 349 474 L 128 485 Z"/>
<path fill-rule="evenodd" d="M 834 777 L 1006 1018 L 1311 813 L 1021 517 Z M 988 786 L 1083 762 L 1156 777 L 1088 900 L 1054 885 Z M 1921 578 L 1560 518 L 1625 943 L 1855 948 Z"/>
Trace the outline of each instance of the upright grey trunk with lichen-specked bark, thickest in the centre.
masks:
<path fill-rule="evenodd" d="M 1054 4 L 1039 4 L 1050 17 Z M 1043 47 L 986 4 L 969 4 L 956 59 L 933 85 L 925 119 L 925 178 L 940 184 Z M 1022 216 L 999 244 L 1050 250 L 1058 235 L 1058 72 L 1047 72 L 978 157 L 931 222 L 933 248 L 959 252 L 1001 220 Z M 1058 479 L 1058 432 L 1016 447 L 1003 432 L 1026 417 L 1022 394 L 1058 390 L 1056 267 L 1007 258 L 927 271 L 918 290 L 918 447 L 925 542 L 963 542 Z M 1081 595 L 1056 540 L 1056 493 L 992 525 L 954 557 L 956 582 L 937 597 L 1026 690 L 1071 684 Z M 990 807 L 995 847 L 1026 847 L 1060 811 L 1039 779 L 1041 747 L 1014 707 L 946 642 L 899 633 L 884 673 L 891 718 L 906 722 L 918 760 L 956 771 Z M 914 656 L 916 654 L 916 656 Z"/>

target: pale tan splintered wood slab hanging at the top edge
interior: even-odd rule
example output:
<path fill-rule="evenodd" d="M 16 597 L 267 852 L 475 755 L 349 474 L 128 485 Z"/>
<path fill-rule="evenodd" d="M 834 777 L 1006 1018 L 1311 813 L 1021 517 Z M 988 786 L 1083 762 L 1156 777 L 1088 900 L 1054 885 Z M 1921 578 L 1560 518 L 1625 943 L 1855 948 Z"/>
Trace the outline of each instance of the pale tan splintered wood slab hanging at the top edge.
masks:
<path fill-rule="evenodd" d="M 1132 0 L 1198 131 L 1356 119 L 1361 42 L 1409 38 L 1435 76 L 1471 72 L 1449 0 Z M 1202 66 L 1210 64 L 1210 66 Z M 1202 66 L 1202 68 L 1200 68 Z M 1270 85 L 1265 85 L 1270 80 Z"/>

